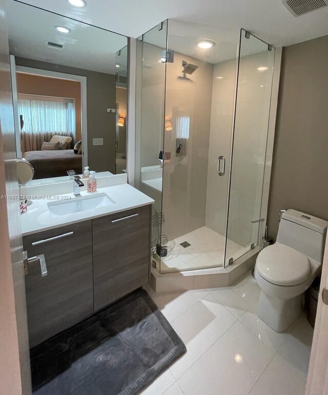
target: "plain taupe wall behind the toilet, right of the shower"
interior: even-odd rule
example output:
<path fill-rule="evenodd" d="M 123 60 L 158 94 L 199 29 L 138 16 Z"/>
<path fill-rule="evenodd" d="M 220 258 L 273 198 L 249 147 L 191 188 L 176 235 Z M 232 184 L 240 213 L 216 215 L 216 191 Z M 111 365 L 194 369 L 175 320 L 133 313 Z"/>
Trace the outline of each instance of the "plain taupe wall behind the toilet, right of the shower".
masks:
<path fill-rule="evenodd" d="M 328 36 L 283 51 L 269 196 L 269 234 L 280 209 L 328 220 Z"/>

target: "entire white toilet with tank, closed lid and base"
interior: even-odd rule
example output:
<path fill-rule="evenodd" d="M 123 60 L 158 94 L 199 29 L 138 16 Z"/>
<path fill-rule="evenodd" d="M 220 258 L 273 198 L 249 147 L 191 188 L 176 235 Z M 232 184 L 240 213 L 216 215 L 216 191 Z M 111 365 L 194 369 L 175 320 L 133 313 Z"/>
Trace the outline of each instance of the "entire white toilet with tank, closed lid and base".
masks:
<path fill-rule="evenodd" d="M 302 294 L 321 271 L 327 224 L 287 210 L 277 242 L 256 259 L 255 279 L 261 288 L 257 315 L 276 332 L 283 332 L 298 317 Z"/>

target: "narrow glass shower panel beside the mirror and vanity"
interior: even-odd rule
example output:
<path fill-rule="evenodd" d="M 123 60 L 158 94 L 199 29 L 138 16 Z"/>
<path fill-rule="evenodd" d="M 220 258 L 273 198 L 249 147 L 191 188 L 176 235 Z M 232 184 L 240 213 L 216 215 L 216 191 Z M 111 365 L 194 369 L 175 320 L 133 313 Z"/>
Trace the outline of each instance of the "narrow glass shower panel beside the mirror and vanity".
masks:
<path fill-rule="evenodd" d="M 163 127 L 167 21 L 137 40 L 135 187 L 155 201 L 152 212 L 152 265 L 160 270 L 156 246 L 165 246 L 161 227 Z"/>

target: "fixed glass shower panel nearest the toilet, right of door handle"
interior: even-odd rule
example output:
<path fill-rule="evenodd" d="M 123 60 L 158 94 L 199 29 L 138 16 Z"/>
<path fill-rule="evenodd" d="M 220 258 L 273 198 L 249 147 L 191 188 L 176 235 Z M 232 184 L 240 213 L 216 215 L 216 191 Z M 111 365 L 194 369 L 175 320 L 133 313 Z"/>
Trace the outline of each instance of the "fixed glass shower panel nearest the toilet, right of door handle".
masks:
<path fill-rule="evenodd" d="M 275 49 L 241 30 L 225 266 L 259 247 Z"/>

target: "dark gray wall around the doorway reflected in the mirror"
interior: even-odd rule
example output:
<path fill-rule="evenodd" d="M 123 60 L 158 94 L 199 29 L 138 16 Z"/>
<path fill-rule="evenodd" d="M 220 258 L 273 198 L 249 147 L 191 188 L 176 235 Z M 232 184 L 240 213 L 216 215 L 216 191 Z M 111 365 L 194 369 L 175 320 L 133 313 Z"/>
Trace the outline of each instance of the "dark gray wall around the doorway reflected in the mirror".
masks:
<path fill-rule="evenodd" d="M 107 108 L 116 107 L 115 76 L 19 57 L 16 64 L 87 77 L 88 165 L 90 170 L 115 174 L 116 115 L 107 113 Z M 104 139 L 104 145 L 92 145 L 97 137 Z"/>

